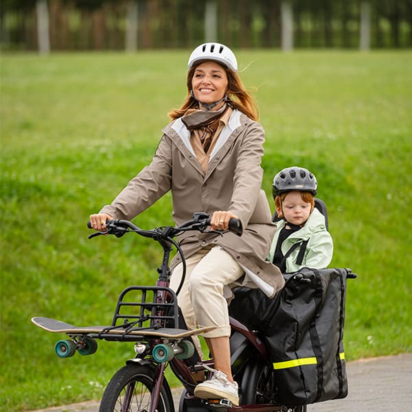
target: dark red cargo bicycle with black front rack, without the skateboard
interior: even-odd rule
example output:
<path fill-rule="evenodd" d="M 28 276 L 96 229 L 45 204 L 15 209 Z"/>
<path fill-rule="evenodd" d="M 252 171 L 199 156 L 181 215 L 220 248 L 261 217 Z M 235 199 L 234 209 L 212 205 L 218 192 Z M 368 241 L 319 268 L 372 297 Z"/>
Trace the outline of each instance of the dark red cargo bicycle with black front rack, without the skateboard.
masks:
<path fill-rule="evenodd" d="M 130 231 L 141 236 L 152 238 L 161 244 L 163 248 L 163 259 L 161 267 L 157 269 L 159 278 L 154 287 L 130 286 L 122 292 L 117 302 L 113 325 L 119 317 L 131 319 L 130 313 L 119 314 L 124 304 L 124 296 L 133 290 L 144 290 L 145 299 L 134 302 L 140 311 L 137 317 L 128 321 L 128 328 L 142 328 L 144 322 L 149 321 L 148 328 L 164 328 L 179 326 L 176 295 L 184 282 L 185 267 L 181 285 L 176 294 L 168 289 L 170 277 L 170 253 L 172 245 L 181 253 L 183 265 L 184 256 L 179 244 L 173 239 L 183 231 L 207 231 L 210 225 L 209 216 L 203 213 L 195 213 L 193 220 L 185 222 L 179 227 L 158 227 L 154 230 L 142 230 L 127 220 L 113 220 L 106 222 L 106 232 L 117 237 L 123 236 Z M 240 222 L 232 219 L 229 230 L 240 234 Z M 91 237 L 100 233 L 93 233 Z M 148 302 L 147 293 L 152 290 L 153 301 Z M 130 303 L 128 303 L 130 305 Z M 133 305 L 130 305 L 133 306 Z M 142 310 L 144 308 L 144 310 Z M 150 312 L 150 314 L 148 314 Z M 275 382 L 271 379 L 271 362 L 268 360 L 267 348 L 256 332 L 247 329 L 236 319 L 230 319 L 233 333 L 231 335 L 231 363 L 233 378 L 238 381 L 240 387 L 240 406 L 233 407 L 227 400 L 200 400 L 193 396 L 196 384 L 195 376 L 199 372 L 209 374 L 213 367 L 213 360 L 193 361 L 194 347 L 189 340 L 170 341 L 170 339 L 158 339 L 156 336 L 141 336 L 135 345 L 136 356 L 126 362 L 126 366 L 119 369 L 108 383 L 102 398 L 100 412 L 113 411 L 142 411 L 166 412 L 174 411 L 172 395 L 168 382 L 163 378 L 167 363 L 174 374 L 182 382 L 183 390 L 179 411 L 201 412 L 209 409 L 222 408 L 228 411 L 239 412 L 265 412 L 265 411 L 295 411 L 304 412 L 306 407 L 288 408 L 273 404 L 273 389 Z M 134 339 L 134 338 L 128 338 Z M 186 338 L 187 339 L 187 338 Z M 190 361 L 192 358 L 192 361 Z M 147 394 L 145 398 L 143 393 Z M 140 393 L 139 393 L 140 392 Z M 137 395 L 139 393 L 139 395 Z M 259 407 L 258 407 L 259 405 Z"/>

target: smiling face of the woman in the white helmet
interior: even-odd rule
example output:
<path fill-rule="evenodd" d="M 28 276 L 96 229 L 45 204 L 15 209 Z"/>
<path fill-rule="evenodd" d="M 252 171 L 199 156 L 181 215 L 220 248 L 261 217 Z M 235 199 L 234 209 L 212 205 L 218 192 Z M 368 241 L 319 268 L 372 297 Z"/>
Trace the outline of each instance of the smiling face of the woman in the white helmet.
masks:
<path fill-rule="evenodd" d="M 192 91 L 196 100 L 211 104 L 225 97 L 228 84 L 227 73 L 222 66 L 212 61 L 203 62 L 194 71 Z"/>

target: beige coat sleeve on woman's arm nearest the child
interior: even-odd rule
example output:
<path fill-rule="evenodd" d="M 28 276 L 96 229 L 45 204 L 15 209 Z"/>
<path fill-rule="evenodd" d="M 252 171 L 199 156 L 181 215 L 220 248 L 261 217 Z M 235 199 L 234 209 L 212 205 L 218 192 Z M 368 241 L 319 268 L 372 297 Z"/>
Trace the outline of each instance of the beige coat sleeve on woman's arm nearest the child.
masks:
<path fill-rule="evenodd" d="M 236 214 L 246 227 L 251 219 L 261 193 L 263 169 L 260 165 L 263 156 L 264 130 L 253 122 L 245 130 L 238 149 L 238 159 L 233 176 L 233 194 L 229 210 Z M 267 200 L 266 200 L 267 203 Z"/>

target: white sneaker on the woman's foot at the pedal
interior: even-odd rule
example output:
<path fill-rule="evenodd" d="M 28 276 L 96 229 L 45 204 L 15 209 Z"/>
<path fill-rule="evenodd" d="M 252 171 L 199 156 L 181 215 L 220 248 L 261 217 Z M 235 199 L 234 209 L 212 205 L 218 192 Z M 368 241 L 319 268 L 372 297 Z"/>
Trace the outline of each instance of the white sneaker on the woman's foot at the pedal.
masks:
<path fill-rule="evenodd" d="M 194 388 L 194 396 L 201 399 L 228 399 L 239 406 L 238 383 L 231 382 L 222 371 L 215 371 L 211 379 Z"/>

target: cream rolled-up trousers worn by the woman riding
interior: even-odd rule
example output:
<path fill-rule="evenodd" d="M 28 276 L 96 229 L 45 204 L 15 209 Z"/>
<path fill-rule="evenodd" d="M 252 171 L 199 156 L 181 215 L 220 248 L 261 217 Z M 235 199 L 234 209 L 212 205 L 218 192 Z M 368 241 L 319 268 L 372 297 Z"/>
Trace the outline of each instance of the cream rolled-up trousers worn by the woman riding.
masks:
<path fill-rule="evenodd" d="M 170 288 L 177 290 L 182 264 L 174 268 Z M 223 288 L 243 275 L 238 262 L 220 247 L 204 248 L 186 259 L 185 283 L 178 303 L 188 329 L 214 326 L 206 338 L 230 336 L 229 312 Z"/>

